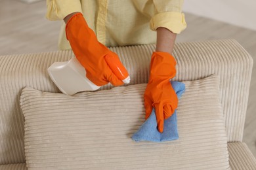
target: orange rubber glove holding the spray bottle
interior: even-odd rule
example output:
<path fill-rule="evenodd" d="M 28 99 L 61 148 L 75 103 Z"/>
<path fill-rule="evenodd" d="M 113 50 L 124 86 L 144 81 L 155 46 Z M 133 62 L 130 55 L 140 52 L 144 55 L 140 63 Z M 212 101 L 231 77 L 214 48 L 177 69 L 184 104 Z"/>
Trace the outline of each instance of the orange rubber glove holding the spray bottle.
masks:
<path fill-rule="evenodd" d="M 107 60 L 112 58 L 112 61 L 119 63 L 123 67 L 121 61 L 119 61 L 116 53 L 98 42 L 95 33 L 89 28 L 83 18 L 83 14 L 74 14 L 68 20 L 66 24 L 66 37 L 70 42 L 75 57 L 85 67 L 86 76 L 89 80 L 97 86 L 103 86 L 108 84 L 108 82 L 111 82 L 114 86 L 123 84 L 112 72 L 112 69 L 106 63 L 105 57 Z M 124 70 L 126 71 L 126 69 Z M 127 71 L 125 75 L 128 75 Z"/>

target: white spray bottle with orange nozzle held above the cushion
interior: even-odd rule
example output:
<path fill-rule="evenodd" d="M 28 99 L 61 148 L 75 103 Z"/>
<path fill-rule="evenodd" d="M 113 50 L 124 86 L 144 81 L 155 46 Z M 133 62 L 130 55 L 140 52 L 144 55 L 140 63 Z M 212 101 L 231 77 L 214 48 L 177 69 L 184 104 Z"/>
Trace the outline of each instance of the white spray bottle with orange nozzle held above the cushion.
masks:
<path fill-rule="evenodd" d="M 117 78 L 125 84 L 130 82 L 130 76 L 119 59 L 105 56 L 105 60 Z M 82 91 L 94 91 L 100 88 L 100 86 L 96 86 L 85 76 L 85 68 L 75 57 L 70 59 L 70 61 L 54 62 L 47 71 L 58 89 L 67 95 L 74 95 Z"/>

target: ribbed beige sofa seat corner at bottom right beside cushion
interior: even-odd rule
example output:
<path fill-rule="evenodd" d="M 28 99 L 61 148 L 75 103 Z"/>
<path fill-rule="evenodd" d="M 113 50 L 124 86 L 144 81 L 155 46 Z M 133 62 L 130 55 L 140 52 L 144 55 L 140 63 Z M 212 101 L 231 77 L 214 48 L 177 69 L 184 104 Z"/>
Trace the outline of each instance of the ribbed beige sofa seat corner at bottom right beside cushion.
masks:
<path fill-rule="evenodd" d="M 228 152 L 231 169 L 256 169 L 256 159 L 245 143 L 228 143 Z"/>

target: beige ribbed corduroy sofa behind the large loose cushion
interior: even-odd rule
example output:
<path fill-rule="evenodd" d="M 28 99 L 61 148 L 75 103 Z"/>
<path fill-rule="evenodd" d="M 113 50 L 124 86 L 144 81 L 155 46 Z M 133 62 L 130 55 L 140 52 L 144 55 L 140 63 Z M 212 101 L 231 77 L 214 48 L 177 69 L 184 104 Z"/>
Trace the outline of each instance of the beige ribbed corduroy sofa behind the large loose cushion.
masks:
<path fill-rule="evenodd" d="M 131 84 L 143 84 L 148 82 L 150 56 L 154 48 L 152 44 L 116 47 L 111 50 L 119 55 L 127 67 L 131 75 Z M 24 152 L 24 117 L 20 109 L 22 89 L 30 86 L 42 92 L 60 93 L 49 78 L 47 68 L 55 61 L 68 61 L 72 56 L 72 51 L 67 50 L 0 57 L 0 169 L 27 169 Z M 253 154 L 242 142 L 253 67 L 251 56 L 234 40 L 177 43 L 173 56 L 177 59 L 177 75 L 173 80 L 193 81 L 210 75 L 219 76 L 220 101 L 226 129 L 226 137 L 223 139 L 227 143 L 228 164 L 230 169 L 256 169 Z M 112 86 L 107 85 L 101 89 L 110 88 Z M 173 144 L 176 151 L 179 151 L 178 146 Z M 203 151 L 201 152 L 203 154 Z M 129 163 L 129 160 L 126 163 Z M 105 169 L 114 169 L 113 167 L 110 164 Z M 200 169 L 200 166 L 188 169 Z M 221 168 L 215 165 L 212 169 Z"/>

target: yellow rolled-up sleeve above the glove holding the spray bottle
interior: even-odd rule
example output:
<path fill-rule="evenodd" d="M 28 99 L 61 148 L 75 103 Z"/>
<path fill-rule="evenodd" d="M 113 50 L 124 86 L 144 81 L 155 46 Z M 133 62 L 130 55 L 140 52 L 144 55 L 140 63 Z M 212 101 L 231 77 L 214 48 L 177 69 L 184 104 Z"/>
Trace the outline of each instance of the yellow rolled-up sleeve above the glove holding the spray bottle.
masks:
<path fill-rule="evenodd" d="M 82 12 L 80 0 L 47 0 L 48 20 L 62 20 L 73 12 Z"/>

